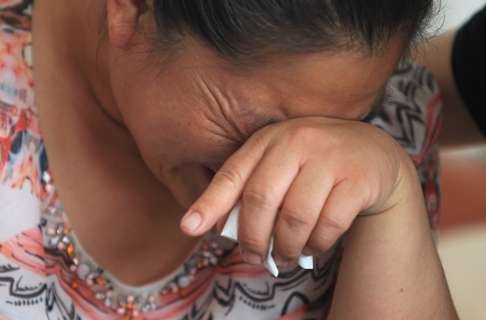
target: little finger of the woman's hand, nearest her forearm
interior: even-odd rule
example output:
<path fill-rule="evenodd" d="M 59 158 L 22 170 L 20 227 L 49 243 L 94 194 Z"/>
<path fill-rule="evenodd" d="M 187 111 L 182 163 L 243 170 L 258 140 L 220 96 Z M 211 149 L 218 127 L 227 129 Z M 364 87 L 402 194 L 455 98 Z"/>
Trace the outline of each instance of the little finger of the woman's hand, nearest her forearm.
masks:
<path fill-rule="evenodd" d="M 343 180 L 332 189 L 307 247 L 317 251 L 331 249 L 350 228 L 363 207 L 363 193 L 350 180 Z"/>

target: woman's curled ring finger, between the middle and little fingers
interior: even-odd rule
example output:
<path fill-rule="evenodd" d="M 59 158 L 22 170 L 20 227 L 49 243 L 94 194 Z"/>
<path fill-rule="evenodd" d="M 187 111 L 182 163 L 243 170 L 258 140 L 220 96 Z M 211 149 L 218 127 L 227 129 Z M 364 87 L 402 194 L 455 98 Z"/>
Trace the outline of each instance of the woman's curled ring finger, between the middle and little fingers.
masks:
<path fill-rule="evenodd" d="M 306 165 L 292 183 L 275 225 L 273 256 L 279 267 L 291 265 L 302 254 L 333 182 L 329 170 Z"/>

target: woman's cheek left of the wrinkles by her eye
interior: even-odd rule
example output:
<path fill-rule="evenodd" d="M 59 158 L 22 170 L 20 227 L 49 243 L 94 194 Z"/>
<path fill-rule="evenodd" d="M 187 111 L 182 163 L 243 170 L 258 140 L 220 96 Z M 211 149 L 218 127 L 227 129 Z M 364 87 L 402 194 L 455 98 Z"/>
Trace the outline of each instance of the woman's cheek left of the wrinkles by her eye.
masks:
<path fill-rule="evenodd" d="M 238 147 L 208 119 L 208 106 L 181 77 L 138 74 L 131 86 L 119 77 L 114 81 L 123 122 L 153 172 L 187 164 L 213 166 Z"/>

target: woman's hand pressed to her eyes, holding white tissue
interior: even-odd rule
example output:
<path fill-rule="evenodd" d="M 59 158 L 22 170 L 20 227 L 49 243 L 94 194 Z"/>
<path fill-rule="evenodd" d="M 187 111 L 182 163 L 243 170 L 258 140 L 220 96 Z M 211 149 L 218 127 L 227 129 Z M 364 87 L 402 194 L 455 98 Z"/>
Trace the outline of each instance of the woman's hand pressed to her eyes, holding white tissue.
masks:
<path fill-rule="evenodd" d="M 201 235 L 241 201 L 244 259 L 262 263 L 273 234 L 274 258 L 285 267 L 302 252 L 330 249 L 360 213 L 394 206 L 391 195 L 409 163 L 390 136 L 365 123 L 300 118 L 270 125 L 224 163 L 181 228 Z"/>

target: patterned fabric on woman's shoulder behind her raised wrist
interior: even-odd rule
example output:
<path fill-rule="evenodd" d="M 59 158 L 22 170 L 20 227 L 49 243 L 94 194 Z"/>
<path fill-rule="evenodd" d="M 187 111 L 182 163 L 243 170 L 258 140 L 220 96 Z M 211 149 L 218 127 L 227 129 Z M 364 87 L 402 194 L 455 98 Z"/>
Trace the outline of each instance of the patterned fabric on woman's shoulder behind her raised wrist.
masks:
<path fill-rule="evenodd" d="M 437 228 L 440 204 L 439 147 L 442 96 L 424 67 L 402 65 L 390 78 L 388 97 L 368 120 L 397 140 L 417 167 L 432 228 Z"/>

